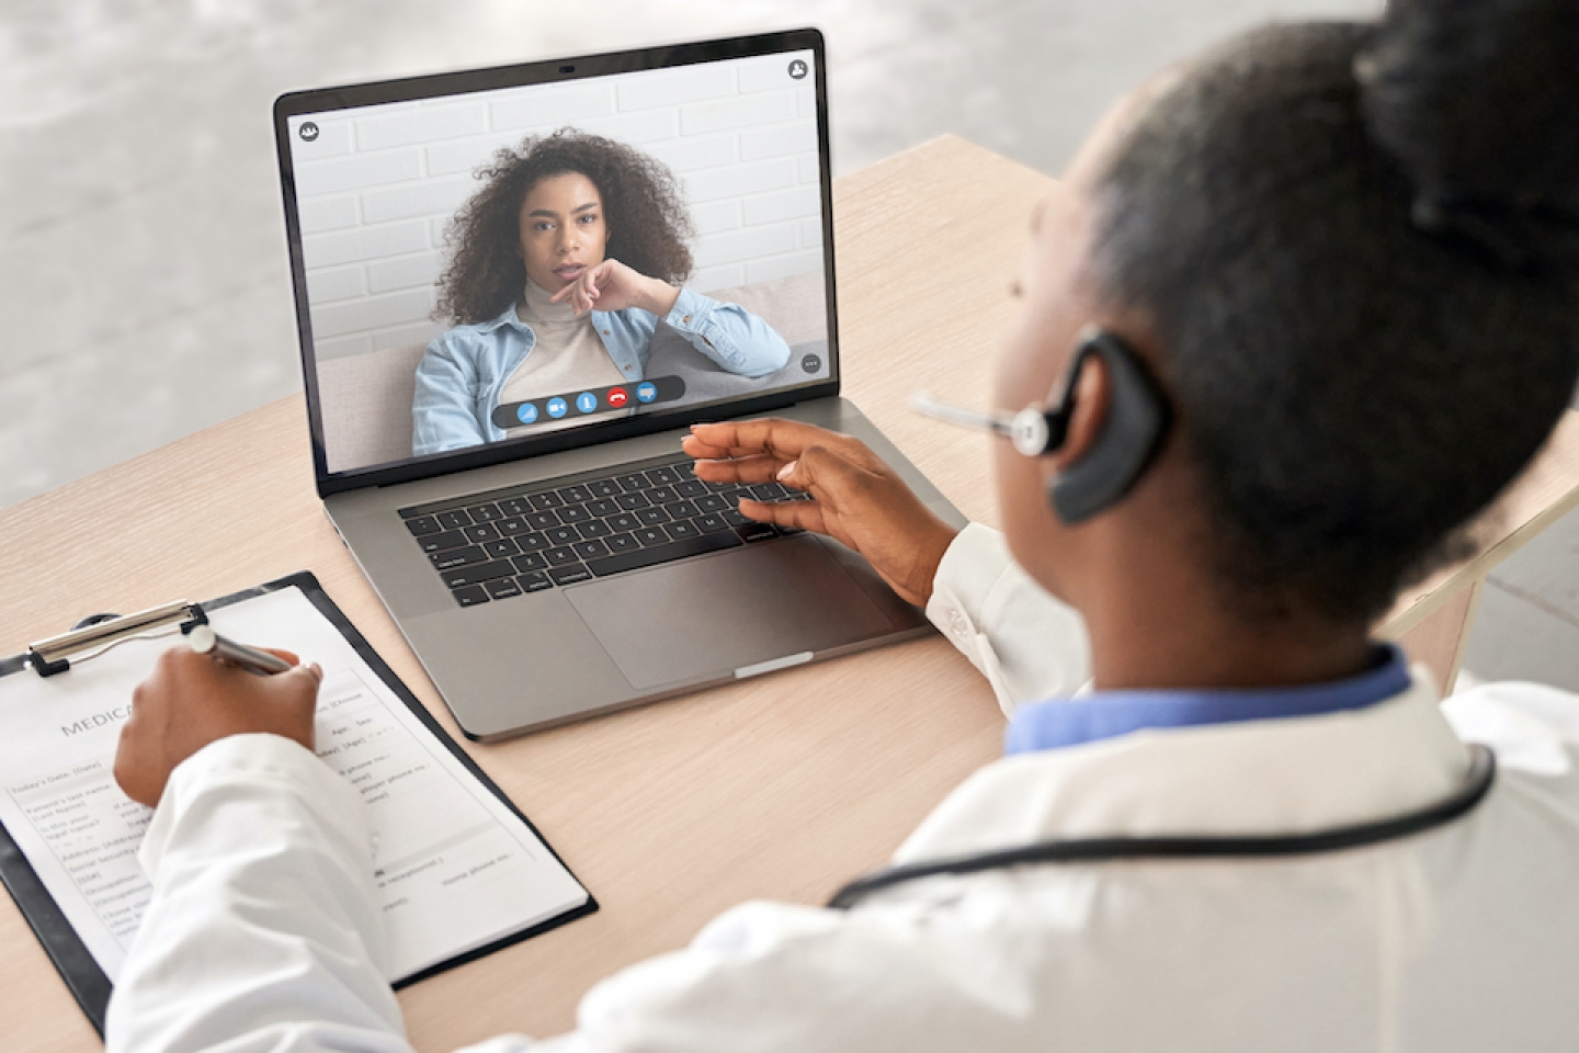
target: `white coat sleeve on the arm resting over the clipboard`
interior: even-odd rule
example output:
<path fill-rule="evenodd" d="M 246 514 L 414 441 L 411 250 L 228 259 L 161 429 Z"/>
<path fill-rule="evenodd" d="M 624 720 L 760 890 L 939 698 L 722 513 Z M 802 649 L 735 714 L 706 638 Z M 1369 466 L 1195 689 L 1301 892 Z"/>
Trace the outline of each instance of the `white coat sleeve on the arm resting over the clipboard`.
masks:
<path fill-rule="evenodd" d="M 141 860 L 153 898 L 109 1004 L 109 1053 L 409 1053 L 355 789 L 278 736 L 171 775 Z"/>

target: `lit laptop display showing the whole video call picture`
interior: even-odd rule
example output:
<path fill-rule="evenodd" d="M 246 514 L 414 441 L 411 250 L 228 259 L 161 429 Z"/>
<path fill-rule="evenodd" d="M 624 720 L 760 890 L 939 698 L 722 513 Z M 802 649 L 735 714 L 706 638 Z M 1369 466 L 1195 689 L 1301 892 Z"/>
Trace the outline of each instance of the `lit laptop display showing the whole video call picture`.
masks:
<path fill-rule="evenodd" d="M 291 117 L 328 470 L 826 379 L 812 63 Z"/>

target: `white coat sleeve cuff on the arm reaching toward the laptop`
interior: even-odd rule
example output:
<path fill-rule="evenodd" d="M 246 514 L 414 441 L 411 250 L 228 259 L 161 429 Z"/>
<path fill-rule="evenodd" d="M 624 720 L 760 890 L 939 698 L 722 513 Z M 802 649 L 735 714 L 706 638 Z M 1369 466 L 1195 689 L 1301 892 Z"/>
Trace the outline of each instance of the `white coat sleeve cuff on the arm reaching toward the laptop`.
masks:
<path fill-rule="evenodd" d="M 1004 715 L 1091 679 L 1080 614 L 1037 586 L 992 527 L 971 523 L 949 545 L 927 617 L 987 677 Z"/>

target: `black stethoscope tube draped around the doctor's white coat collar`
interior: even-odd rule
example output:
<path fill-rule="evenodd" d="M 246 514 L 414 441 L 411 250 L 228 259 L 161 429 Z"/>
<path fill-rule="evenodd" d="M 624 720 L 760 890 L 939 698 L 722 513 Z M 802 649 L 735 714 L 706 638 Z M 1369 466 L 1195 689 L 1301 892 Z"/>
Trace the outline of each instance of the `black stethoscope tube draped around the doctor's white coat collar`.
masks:
<path fill-rule="evenodd" d="M 838 911 L 850 909 L 864 897 L 883 889 L 892 889 L 906 881 L 921 881 L 922 878 L 935 878 L 938 875 L 973 875 L 984 870 L 1004 870 L 1007 867 L 1034 864 L 1097 864 L 1124 859 L 1268 859 L 1366 848 L 1421 834 L 1457 819 L 1486 797 L 1495 774 L 1497 755 L 1484 745 L 1470 745 L 1470 770 L 1462 786 L 1432 805 L 1388 819 L 1337 826 L 1309 834 L 1091 837 L 1036 841 L 1033 845 L 981 853 L 977 856 L 957 856 L 952 859 L 889 867 L 887 870 L 851 881 L 834 894 L 827 906 Z"/>

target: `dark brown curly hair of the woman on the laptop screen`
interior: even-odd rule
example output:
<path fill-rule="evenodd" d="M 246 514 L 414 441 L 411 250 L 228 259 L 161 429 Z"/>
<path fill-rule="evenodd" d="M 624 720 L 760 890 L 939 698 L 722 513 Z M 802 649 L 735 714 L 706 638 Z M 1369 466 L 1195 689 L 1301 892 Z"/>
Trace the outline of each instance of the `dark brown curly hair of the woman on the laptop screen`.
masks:
<path fill-rule="evenodd" d="M 605 256 L 669 284 L 692 272 L 687 240 L 692 219 L 674 175 L 657 159 L 624 144 L 561 128 L 527 136 L 477 169 L 483 188 L 445 229 L 450 265 L 439 278 L 434 317 L 471 325 L 497 317 L 521 298 L 526 264 L 519 256 L 519 213 L 526 196 L 553 175 L 584 175 L 603 197 L 609 238 Z"/>

